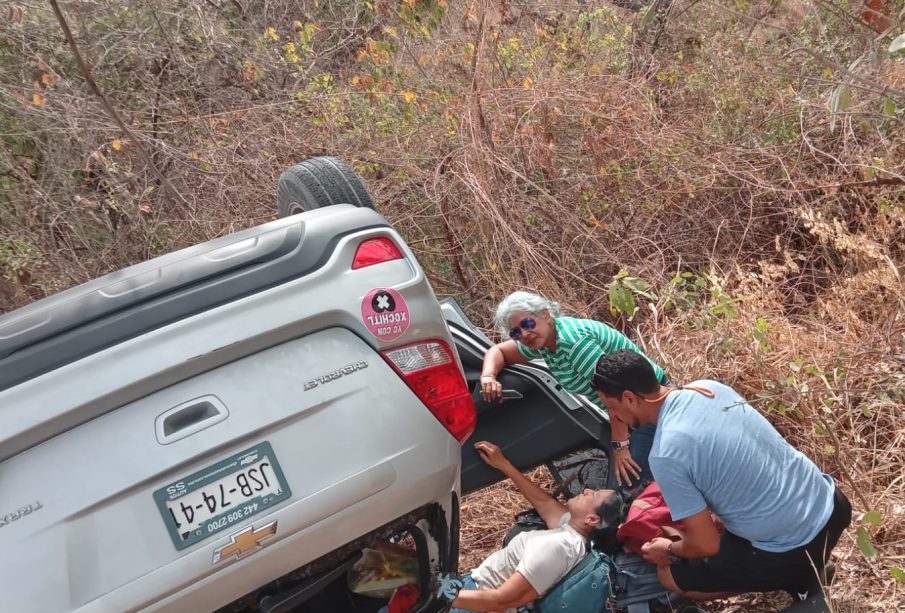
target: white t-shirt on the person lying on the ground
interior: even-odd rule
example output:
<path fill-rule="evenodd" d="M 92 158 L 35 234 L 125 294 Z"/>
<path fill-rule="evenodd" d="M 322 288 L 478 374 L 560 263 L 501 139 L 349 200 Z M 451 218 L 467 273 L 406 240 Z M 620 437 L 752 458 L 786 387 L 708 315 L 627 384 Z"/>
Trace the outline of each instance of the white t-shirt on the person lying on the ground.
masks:
<path fill-rule="evenodd" d="M 565 513 L 556 528 L 516 535 L 471 571 L 471 578 L 478 588 L 492 590 L 519 572 L 543 596 L 588 552 L 587 539 L 569 525 L 570 518 L 571 514 Z"/>

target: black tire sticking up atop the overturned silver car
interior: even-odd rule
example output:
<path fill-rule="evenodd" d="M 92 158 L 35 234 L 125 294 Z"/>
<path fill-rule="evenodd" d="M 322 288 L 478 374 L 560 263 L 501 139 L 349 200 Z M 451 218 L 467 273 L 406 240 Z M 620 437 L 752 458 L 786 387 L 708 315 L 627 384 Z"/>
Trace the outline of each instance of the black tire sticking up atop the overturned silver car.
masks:
<path fill-rule="evenodd" d="M 333 157 L 305 160 L 287 168 L 277 183 L 277 215 L 288 217 L 334 204 L 374 208 L 354 170 Z"/>

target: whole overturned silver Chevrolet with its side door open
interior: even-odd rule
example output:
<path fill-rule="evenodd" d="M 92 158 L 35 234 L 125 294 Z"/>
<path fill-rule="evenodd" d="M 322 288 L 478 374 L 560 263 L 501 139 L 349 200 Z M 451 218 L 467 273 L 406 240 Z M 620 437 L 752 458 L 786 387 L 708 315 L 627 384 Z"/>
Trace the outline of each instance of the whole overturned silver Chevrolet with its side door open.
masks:
<path fill-rule="evenodd" d="M 608 448 L 542 366 L 480 401 L 490 341 L 348 167 L 290 168 L 278 208 L 0 317 L 0 610 L 375 613 L 348 572 L 389 542 L 442 611 L 461 492 L 501 477 L 466 439 Z"/>

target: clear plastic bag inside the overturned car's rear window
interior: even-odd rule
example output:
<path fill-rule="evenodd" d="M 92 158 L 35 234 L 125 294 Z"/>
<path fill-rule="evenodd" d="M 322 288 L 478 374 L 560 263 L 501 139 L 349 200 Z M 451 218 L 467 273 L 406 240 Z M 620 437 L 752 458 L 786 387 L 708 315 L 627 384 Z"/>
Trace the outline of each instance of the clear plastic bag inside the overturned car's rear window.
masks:
<path fill-rule="evenodd" d="M 361 559 L 349 569 L 349 589 L 364 596 L 389 598 L 407 583 L 418 583 L 418 558 L 411 549 L 392 543 L 363 549 Z"/>

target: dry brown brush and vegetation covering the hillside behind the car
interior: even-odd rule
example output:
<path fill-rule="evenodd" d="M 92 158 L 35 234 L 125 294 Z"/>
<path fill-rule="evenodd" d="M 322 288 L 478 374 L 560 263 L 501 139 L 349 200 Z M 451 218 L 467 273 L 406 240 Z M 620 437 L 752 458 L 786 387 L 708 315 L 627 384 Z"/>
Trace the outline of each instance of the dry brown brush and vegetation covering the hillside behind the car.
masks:
<path fill-rule="evenodd" d="M 905 609 L 905 27 L 869 4 L 63 2 L 105 101 L 15 0 L 0 312 L 270 219 L 337 155 L 476 321 L 531 288 L 755 401 L 853 500 L 837 609 Z M 504 492 L 466 501 L 463 565 Z"/>

